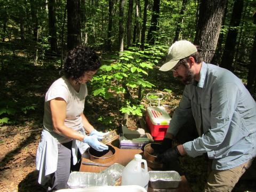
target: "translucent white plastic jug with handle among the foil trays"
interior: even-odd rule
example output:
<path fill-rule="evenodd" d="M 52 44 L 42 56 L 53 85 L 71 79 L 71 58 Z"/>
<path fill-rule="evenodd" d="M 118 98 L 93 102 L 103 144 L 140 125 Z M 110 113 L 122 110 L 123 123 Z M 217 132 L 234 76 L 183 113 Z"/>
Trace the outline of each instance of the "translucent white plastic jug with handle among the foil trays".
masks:
<path fill-rule="evenodd" d="M 144 169 L 141 168 L 141 163 L 144 164 Z M 134 155 L 134 159 L 128 163 L 122 173 L 122 186 L 138 185 L 146 190 L 148 189 L 148 165 L 145 159 L 139 154 Z"/>

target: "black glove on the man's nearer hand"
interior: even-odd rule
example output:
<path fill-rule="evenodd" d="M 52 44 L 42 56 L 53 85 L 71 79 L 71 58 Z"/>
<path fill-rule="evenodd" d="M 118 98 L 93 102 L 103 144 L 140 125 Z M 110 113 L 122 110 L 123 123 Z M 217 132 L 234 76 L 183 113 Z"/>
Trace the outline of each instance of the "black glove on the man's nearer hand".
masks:
<path fill-rule="evenodd" d="M 157 161 L 163 163 L 178 162 L 180 156 L 179 150 L 177 146 L 175 146 L 174 148 L 167 149 L 164 153 L 159 154 L 157 156 Z"/>

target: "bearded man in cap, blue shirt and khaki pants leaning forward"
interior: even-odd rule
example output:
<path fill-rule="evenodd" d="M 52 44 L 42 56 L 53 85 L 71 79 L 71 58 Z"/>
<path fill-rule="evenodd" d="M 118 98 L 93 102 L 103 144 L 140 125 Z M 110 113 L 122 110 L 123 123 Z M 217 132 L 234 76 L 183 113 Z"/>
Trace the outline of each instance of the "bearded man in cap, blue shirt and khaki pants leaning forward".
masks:
<path fill-rule="evenodd" d="M 205 154 L 211 162 L 205 191 L 231 191 L 256 156 L 254 99 L 229 70 L 202 62 L 188 41 L 175 42 L 159 70 L 172 70 L 186 84 L 163 141 L 169 149 L 159 157 L 171 162 Z M 191 116 L 200 136 L 171 148 L 173 137 Z"/>

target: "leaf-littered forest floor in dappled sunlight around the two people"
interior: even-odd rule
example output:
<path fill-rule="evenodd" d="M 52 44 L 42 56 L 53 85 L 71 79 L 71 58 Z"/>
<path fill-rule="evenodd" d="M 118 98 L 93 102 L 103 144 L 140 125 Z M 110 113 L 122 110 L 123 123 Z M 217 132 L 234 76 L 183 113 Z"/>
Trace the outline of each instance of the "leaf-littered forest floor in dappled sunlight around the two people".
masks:
<path fill-rule="evenodd" d="M 44 94 L 59 77 L 56 65 L 59 58 L 39 58 L 35 65 L 31 47 L 33 45 L 29 42 L 2 43 L 0 47 L 0 112 L 3 106 L 10 109 L 10 124 L 0 126 L 0 191 L 45 191 L 37 183 L 35 158 L 41 137 Z M 183 86 L 172 78 L 171 73 L 149 75 L 153 77 L 151 83 L 156 87 L 144 93 L 163 92 L 165 98 L 162 104 L 169 106 L 167 110 L 172 114 Z M 122 114 L 117 109 L 116 98 L 105 101 L 89 95 L 86 99 L 85 115 L 95 128 L 102 131 L 119 130 Z M 145 107 L 149 105 L 146 100 L 142 103 Z M 1 114 L 0 119 L 3 118 Z M 113 121 L 106 126 L 98 120 L 100 116 L 112 116 Z M 192 190 L 202 191 L 207 170 L 205 158 L 185 157 L 180 159 L 180 164 Z M 241 180 L 233 191 L 256 191 L 255 182 Z"/>

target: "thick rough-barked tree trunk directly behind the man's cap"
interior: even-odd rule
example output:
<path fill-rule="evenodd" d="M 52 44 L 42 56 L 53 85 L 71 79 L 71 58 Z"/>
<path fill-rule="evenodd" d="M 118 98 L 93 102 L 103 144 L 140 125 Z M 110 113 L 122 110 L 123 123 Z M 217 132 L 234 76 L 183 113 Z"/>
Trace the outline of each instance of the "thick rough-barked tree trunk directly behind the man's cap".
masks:
<path fill-rule="evenodd" d="M 213 58 L 220 35 L 226 1 L 227 0 L 200 1 L 194 44 L 200 46 L 200 53 L 205 62 L 210 62 Z"/>

